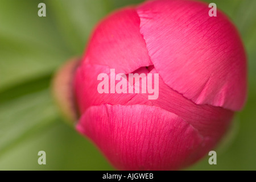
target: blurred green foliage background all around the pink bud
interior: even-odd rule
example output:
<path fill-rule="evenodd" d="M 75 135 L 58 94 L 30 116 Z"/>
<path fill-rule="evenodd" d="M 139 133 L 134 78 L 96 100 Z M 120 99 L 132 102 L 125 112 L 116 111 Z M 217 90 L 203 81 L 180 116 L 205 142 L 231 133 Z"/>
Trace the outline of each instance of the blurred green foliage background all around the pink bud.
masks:
<path fill-rule="evenodd" d="M 47 16 L 39 18 L 38 4 Z M 53 73 L 80 56 L 95 24 L 142 0 L 0 0 L 0 170 L 113 170 L 100 151 L 61 118 L 51 96 Z M 217 4 L 241 32 L 249 60 L 249 97 L 232 131 L 187 170 L 256 170 L 256 1 Z M 239 84 L 239 83 L 237 83 Z M 46 165 L 38 152 L 46 151 Z"/>

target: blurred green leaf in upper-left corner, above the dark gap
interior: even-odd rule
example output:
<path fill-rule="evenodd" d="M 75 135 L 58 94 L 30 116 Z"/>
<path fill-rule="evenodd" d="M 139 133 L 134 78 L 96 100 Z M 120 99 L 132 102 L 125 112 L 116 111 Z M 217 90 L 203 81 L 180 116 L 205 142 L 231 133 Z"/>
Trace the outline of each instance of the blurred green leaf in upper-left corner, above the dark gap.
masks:
<path fill-rule="evenodd" d="M 38 1 L 0 1 L 0 90 L 46 75 L 72 55 Z"/>

